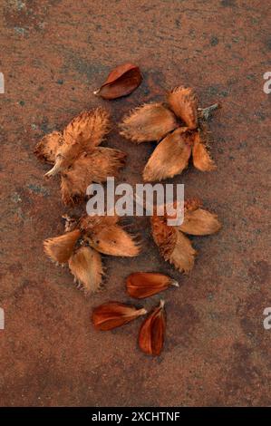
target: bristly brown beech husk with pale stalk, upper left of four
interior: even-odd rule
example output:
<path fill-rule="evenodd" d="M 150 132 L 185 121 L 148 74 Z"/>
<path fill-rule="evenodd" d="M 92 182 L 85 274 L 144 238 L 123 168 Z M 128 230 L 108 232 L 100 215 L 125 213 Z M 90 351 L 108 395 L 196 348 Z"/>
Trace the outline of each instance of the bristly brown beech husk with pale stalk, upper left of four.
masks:
<path fill-rule="evenodd" d="M 63 203 L 73 205 L 82 201 L 92 182 L 103 182 L 117 176 L 126 154 L 121 150 L 98 147 L 109 131 L 109 113 L 102 108 L 83 111 L 63 133 L 53 131 L 35 147 L 41 160 L 53 163 L 45 176 L 61 175 Z"/>

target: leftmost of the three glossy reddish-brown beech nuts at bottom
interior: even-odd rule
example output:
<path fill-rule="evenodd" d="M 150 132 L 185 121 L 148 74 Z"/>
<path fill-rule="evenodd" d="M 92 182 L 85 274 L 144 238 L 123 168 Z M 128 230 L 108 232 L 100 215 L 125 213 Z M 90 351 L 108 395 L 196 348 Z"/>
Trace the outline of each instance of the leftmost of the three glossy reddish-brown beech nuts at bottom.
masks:
<path fill-rule="evenodd" d="M 130 323 L 140 315 L 147 314 L 146 309 L 137 309 L 119 302 L 109 302 L 97 306 L 92 312 L 92 323 L 98 330 L 107 331 Z"/>

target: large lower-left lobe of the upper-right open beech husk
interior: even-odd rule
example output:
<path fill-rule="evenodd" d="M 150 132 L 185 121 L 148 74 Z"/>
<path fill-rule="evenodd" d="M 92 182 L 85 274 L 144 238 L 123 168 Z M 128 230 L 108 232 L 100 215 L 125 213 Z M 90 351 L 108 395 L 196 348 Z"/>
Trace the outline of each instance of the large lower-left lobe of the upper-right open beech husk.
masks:
<path fill-rule="evenodd" d="M 143 171 L 145 181 L 173 178 L 188 167 L 192 136 L 186 129 L 170 133 L 152 152 Z"/>

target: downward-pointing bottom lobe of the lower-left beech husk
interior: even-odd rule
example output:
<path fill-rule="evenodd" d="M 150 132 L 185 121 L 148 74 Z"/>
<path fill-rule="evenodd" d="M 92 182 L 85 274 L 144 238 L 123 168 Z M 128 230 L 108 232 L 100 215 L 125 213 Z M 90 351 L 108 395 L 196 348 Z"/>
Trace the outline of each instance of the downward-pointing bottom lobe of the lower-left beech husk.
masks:
<path fill-rule="evenodd" d="M 102 258 L 91 247 L 80 247 L 69 259 L 75 281 L 86 295 L 97 291 L 102 284 Z"/>

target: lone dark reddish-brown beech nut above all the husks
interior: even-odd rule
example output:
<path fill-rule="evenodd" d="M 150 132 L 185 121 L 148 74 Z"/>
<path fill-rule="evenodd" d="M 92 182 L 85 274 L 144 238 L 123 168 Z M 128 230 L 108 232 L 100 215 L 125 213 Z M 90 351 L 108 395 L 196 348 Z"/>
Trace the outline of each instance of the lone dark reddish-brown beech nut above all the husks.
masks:
<path fill-rule="evenodd" d="M 116 99 L 133 92 L 142 81 L 140 68 L 132 63 L 122 63 L 114 68 L 102 84 L 102 87 L 94 92 L 103 99 Z"/>

